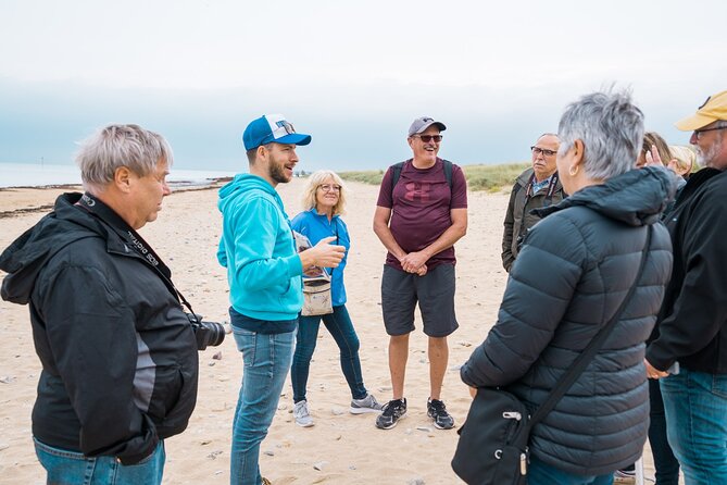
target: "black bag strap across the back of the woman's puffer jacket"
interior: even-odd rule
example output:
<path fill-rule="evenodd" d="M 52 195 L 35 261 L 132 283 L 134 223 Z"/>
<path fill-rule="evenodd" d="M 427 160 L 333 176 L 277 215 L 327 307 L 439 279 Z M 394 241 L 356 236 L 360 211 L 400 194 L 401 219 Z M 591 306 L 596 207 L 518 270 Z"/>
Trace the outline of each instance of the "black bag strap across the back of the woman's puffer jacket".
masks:
<path fill-rule="evenodd" d="M 626 310 L 626 306 L 631 300 L 631 297 L 636 291 L 636 287 L 639 285 L 639 279 L 641 279 L 641 274 L 643 273 L 643 269 L 647 265 L 649 246 L 651 246 L 651 233 L 653 232 L 652 226 L 650 225 L 647 231 L 648 231 L 647 242 L 643 245 L 643 250 L 641 251 L 641 263 L 639 265 L 639 271 L 636 274 L 636 279 L 634 281 L 634 284 L 629 288 L 626 298 L 624 298 L 624 301 L 622 301 L 621 307 L 618 307 L 618 310 L 616 310 L 616 313 L 614 313 L 609 323 L 606 323 L 603 326 L 603 328 L 601 328 L 599 333 L 596 334 L 596 337 L 593 337 L 591 343 L 588 344 L 588 347 L 586 347 L 584 351 L 580 352 L 580 355 L 576 358 L 576 360 L 571 365 L 571 369 L 568 369 L 568 372 L 566 372 L 563 375 L 563 377 L 561 377 L 561 380 L 557 382 L 557 385 L 555 385 L 555 387 L 550 393 L 544 402 L 540 405 L 540 407 L 532 413 L 532 416 L 528 422 L 528 427 L 531 428 L 532 426 L 535 426 L 540 420 L 542 420 L 546 416 L 546 414 L 548 414 L 553 409 L 553 407 L 555 407 L 555 405 L 557 403 L 559 400 L 561 400 L 566 390 L 571 388 L 573 383 L 576 382 L 576 380 L 580 376 L 586 366 L 588 366 L 590 361 L 596 356 L 596 352 L 598 352 L 601 346 L 603 346 L 603 343 L 605 341 L 606 338 L 609 338 L 609 335 L 611 335 L 611 332 L 616 326 L 616 322 L 618 322 L 618 319 L 621 318 L 622 313 L 624 313 L 624 310 Z"/>

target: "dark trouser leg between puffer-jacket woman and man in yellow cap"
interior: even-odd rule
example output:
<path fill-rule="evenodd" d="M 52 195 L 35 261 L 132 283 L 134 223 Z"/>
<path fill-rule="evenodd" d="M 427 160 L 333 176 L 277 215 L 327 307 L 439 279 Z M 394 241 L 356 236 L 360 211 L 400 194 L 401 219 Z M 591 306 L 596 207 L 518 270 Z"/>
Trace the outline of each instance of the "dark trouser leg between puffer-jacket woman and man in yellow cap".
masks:
<path fill-rule="evenodd" d="M 656 485 L 679 485 L 679 462 L 666 438 L 666 415 L 659 380 L 649 380 L 649 445 L 654 457 Z"/>

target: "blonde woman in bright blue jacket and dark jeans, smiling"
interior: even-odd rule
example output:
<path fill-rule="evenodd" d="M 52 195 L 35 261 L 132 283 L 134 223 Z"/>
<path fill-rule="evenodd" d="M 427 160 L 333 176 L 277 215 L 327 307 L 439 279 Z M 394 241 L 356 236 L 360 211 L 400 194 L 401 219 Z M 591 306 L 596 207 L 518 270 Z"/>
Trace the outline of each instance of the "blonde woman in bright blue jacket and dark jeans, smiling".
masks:
<path fill-rule="evenodd" d="M 368 394 L 363 383 L 361 361 L 359 360 L 359 336 L 346 309 L 346 287 L 343 270 L 351 246 L 346 223 L 340 215 L 346 206 L 343 181 L 334 172 L 318 171 L 309 178 L 303 195 L 305 209 L 292 220 L 293 231 L 306 236 L 312 245 L 325 237 L 336 237 L 336 245 L 346 247 L 343 260 L 330 272 L 330 290 L 334 312 L 325 315 L 299 316 L 296 352 L 292 358 L 290 378 L 293 390 L 293 416 L 296 424 L 313 426 L 313 419 L 308 409 L 305 385 L 311 365 L 311 358 L 318 338 L 321 319 L 330 332 L 340 349 L 341 370 L 351 388 L 351 413 L 379 412 L 381 405 Z M 330 271 L 330 270 L 328 270 Z"/>

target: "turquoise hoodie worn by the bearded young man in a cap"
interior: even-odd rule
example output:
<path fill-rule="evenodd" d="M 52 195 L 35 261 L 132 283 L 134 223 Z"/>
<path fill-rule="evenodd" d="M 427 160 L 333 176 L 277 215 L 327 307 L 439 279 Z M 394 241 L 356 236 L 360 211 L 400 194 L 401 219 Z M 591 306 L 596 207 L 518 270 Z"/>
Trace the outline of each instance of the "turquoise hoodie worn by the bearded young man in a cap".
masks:
<path fill-rule="evenodd" d="M 292 328 L 278 332 L 294 329 L 303 307 L 303 266 L 280 196 L 264 178 L 238 174 L 220 189 L 217 208 L 223 215 L 217 260 L 227 268 L 233 309 L 252 319 L 292 321 Z"/>

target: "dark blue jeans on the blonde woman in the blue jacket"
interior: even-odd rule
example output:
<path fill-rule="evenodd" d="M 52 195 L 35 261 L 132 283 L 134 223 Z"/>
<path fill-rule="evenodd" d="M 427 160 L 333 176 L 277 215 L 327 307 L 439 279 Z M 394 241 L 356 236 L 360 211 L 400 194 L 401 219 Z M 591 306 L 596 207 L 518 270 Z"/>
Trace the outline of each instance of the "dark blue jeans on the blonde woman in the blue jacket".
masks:
<path fill-rule="evenodd" d="M 341 370 L 346 382 L 351 388 L 353 399 L 363 399 L 368 394 L 363 384 L 361 361 L 359 360 L 359 336 L 353 328 L 346 304 L 334 307 L 334 312 L 327 315 L 300 316 L 298 319 L 298 338 L 296 353 L 292 357 L 290 380 L 292 381 L 292 400 L 299 402 L 305 399 L 305 386 L 311 369 L 311 359 L 318 339 L 321 319 L 336 340 L 340 350 Z"/>

